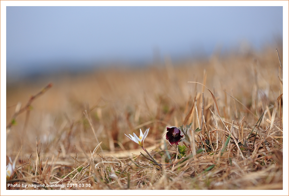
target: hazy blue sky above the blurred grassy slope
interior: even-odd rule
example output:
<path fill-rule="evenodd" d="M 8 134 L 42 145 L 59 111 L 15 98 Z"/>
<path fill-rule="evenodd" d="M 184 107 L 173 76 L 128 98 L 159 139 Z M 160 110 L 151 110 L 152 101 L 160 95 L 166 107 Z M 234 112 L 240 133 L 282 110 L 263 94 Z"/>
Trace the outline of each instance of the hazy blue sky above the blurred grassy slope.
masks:
<path fill-rule="evenodd" d="M 282 36 L 282 6 L 7 6 L 6 73 L 258 50 Z"/>

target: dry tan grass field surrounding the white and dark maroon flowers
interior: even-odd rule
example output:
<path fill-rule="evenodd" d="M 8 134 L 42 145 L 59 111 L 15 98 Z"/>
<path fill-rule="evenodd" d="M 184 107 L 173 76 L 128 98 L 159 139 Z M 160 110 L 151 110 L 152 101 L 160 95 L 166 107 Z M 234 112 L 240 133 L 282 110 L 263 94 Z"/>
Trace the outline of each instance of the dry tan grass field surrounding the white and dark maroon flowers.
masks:
<path fill-rule="evenodd" d="M 283 189 L 282 80 L 267 47 L 7 84 L 7 165 L 11 157 L 16 170 L 6 187 Z M 166 127 L 190 123 L 188 148 L 170 146 Z M 140 128 L 160 166 L 125 136 Z"/>

